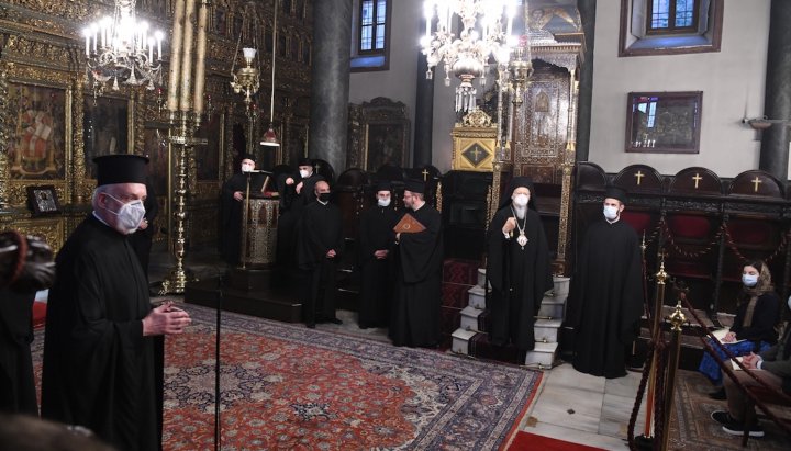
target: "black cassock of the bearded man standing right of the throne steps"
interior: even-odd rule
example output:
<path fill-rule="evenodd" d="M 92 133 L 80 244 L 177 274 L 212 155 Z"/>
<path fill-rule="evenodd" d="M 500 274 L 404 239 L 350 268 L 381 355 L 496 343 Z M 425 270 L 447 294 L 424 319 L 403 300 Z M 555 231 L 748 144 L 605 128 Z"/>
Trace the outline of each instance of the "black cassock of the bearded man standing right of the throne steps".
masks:
<path fill-rule="evenodd" d="M 625 350 L 643 315 L 643 261 L 637 233 L 623 221 L 591 224 L 568 297 L 575 328 L 573 367 L 605 377 L 626 375 Z"/>

